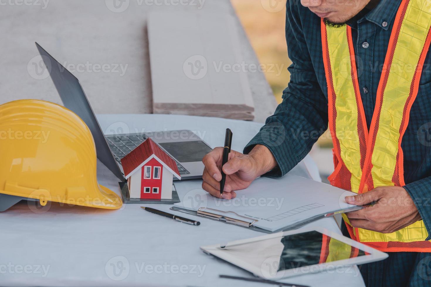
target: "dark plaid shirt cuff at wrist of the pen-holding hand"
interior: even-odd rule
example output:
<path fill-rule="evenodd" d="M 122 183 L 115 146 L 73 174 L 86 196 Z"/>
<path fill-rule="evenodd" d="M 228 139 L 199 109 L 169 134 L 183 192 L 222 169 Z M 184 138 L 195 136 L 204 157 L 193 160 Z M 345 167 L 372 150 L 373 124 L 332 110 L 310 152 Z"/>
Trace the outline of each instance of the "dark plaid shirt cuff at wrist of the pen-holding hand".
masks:
<path fill-rule="evenodd" d="M 248 154 L 255 145 L 265 145 L 275 157 L 277 167 L 263 174 L 266 177 L 281 177 L 298 164 L 297 156 L 290 147 L 284 133 L 274 133 L 271 127 L 262 127 L 259 133 L 246 145 L 243 153 Z"/>

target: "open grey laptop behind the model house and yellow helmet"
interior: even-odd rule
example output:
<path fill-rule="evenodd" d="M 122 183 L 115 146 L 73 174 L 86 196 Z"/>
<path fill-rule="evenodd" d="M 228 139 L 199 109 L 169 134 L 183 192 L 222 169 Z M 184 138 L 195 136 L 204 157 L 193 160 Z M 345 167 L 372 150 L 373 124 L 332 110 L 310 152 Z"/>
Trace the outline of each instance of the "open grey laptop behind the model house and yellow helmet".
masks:
<path fill-rule="evenodd" d="M 50 70 L 51 79 L 63 105 L 84 120 L 93 134 L 97 158 L 121 181 L 125 181 L 121 159 L 149 137 L 176 161 L 181 179 L 202 178 L 204 169 L 202 158 L 212 148 L 195 133 L 190 130 L 176 130 L 145 134 L 105 135 L 78 78 L 56 61 L 38 43 L 36 46 L 45 65 Z M 181 137 L 173 135 L 181 135 Z M 176 180 L 175 176 L 174 180 Z"/>

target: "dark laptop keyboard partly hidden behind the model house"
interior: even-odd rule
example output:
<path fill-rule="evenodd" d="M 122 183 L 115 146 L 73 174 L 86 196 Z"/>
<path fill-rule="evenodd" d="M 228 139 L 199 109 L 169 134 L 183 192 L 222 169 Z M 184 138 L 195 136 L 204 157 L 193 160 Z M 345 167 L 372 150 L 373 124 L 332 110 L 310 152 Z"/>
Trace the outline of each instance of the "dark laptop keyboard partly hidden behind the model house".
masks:
<path fill-rule="evenodd" d="M 144 140 L 147 139 L 144 135 L 121 135 L 121 136 L 105 136 L 108 142 L 109 148 L 114 154 L 115 160 L 121 164 L 121 159 L 131 152 L 134 148 L 140 145 Z M 176 160 L 178 171 L 180 175 L 190 174 L 181 164 Z"/>

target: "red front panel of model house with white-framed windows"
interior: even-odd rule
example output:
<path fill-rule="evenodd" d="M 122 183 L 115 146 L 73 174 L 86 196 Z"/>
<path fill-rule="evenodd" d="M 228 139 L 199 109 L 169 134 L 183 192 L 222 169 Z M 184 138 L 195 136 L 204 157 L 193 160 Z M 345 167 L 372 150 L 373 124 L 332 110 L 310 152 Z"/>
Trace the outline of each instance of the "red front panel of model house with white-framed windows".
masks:
<path fill-rule="evenodd" d="M 162 196 L 163 166 L 155 158 L 149 160 L 141 170 L 141 198 L 160 199 Z"/>

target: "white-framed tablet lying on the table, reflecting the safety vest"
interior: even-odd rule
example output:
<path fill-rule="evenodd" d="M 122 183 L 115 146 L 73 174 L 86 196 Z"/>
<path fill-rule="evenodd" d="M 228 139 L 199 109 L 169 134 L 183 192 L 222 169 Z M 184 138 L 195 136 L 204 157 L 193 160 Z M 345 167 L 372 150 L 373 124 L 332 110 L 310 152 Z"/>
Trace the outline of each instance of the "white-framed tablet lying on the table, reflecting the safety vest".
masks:
<path fill-rule="evenodd" d="M 277 280 L 375 262 L 387 254 L 325 228 L 300 228 L 200 247 L 253 275 Z M 352 271 L 353 272 L 353 271 Z"/>

